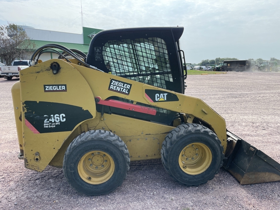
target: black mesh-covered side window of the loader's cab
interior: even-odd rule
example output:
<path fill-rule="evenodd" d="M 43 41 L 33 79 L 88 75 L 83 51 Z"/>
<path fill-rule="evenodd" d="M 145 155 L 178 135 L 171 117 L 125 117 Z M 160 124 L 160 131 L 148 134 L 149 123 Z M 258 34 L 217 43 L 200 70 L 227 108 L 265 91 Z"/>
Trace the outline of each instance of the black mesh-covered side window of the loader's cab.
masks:
<path fill-rule="evenodd" d="M 166 81 L 173 82 L 167 46 L 161 38 L 109 40 L 102 55 L 114 75 L 164 89 Z"/>

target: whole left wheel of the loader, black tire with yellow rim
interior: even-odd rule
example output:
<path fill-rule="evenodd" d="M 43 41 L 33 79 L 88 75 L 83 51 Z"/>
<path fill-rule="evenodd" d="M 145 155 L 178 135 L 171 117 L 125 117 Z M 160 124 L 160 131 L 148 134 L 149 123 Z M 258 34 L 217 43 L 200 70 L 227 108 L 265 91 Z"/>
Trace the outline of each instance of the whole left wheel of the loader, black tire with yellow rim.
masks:
<path fill-rule="evenodd" d="M 76 191 L 86 195 L 108 194 L 122 185 L 130 158 L 117 135 L 92 130 L 74 139 L 63 160 L 63 172 Z"/>

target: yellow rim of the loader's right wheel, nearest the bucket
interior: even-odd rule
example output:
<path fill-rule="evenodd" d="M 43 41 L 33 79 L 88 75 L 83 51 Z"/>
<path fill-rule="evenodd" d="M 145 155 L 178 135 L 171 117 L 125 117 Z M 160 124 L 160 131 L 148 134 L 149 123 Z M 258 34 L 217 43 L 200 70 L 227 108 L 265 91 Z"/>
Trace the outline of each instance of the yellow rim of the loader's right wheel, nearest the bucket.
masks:
<path fill-rule="evenodd" d="M 198 175 L 209 168 L 212 162 L 212 153 L 205 144 L 192 143 L 181 151 L 178 161 L 183 172 Z"/>

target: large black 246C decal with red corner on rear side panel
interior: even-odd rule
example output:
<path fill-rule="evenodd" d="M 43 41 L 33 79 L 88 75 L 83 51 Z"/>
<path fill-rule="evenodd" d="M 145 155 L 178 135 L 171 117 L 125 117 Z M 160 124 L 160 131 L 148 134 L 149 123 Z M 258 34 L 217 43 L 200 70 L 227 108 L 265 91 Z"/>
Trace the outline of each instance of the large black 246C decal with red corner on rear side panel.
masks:
<path fill-rule="evenodd" d="M 35 134 L 71 131 L 82 121 L 92 118 L 82 107 L 52 103 L 24 102 L 25 125 Z"/>

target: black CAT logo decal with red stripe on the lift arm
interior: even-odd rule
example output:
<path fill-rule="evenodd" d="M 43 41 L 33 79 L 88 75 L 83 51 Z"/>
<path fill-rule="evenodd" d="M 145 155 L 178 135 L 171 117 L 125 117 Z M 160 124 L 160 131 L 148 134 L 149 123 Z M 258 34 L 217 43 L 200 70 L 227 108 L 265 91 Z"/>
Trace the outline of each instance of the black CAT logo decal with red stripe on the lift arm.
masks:
<path fill-rule="evenodd" d="M 145 89 L 145 96 L 150 102 L 172 102 L 179 101 L 178 97 L 170 92 Z"/>

